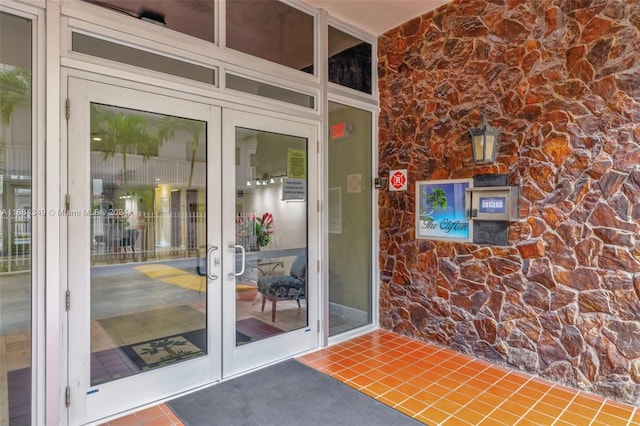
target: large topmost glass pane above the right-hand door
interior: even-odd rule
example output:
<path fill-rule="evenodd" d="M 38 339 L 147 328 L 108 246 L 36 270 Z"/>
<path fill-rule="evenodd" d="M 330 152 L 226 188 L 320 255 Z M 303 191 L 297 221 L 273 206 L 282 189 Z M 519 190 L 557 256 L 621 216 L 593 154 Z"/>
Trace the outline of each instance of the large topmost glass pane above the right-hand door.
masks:
<path fill-rule="evenodd" d="M 314 73 L 313 16 L 277 0 L 227 0 L 227 47 Z"/>

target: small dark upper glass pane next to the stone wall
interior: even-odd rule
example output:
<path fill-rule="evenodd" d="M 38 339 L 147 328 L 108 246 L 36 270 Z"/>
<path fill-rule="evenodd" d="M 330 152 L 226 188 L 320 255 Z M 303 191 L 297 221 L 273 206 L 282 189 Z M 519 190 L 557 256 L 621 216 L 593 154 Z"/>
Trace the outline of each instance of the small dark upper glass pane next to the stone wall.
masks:
<path fill-rule="evenodd" d="M 371 93 L 371 44 L 330 26 L 329 81 Z"/>

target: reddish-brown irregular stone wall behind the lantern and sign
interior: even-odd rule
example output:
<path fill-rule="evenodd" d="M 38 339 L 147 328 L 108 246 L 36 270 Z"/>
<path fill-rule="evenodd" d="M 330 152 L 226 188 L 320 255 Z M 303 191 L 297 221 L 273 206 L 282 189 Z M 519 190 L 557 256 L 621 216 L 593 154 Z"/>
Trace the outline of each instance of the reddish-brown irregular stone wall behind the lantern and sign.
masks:
<path fill-rule="evenodd" d="M 464 0 L 379 39 L 384 328 L 640 402 L 640 3 Z M 502 130 L 474 166 L 468 130 Z M 509 246 L 417 240 L 418 180 L 506 173 Z"/>

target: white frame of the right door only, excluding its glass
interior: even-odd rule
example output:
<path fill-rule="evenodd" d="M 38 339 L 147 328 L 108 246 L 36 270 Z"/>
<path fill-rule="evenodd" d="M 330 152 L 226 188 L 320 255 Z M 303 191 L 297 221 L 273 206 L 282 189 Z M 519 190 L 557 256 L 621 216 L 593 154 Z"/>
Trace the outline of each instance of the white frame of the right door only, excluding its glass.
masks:
<path fill-rule="evenodd" d="M 223 377 L 233 376 L 267 363 L 273 363 L 311 349 L 320 344 L 319 306 L 320 291 L 318 285 L 318 241 L 319 215 L 317 200 L 319 183 L 318 157 L 315 149 L 318 138 L 318 125 L 292 119 L 275 118 L 269 115 L 248 113 L 230 108 L 222 112 L 222 157 L 223 157 L 223 299 L 225 311 L 223 318 Z M 307 327 L 282 333 L 268 339 L 236 346 L 235 312 L 235 130 L 243 127 L 252 130 L 279 133 L 307 139 Z M 276 218 L 277 220 L 277 218 Z M 280 218 L 285 220 L 285 218 Z M 315 231 L 315 232 L 314 232 Z"/>

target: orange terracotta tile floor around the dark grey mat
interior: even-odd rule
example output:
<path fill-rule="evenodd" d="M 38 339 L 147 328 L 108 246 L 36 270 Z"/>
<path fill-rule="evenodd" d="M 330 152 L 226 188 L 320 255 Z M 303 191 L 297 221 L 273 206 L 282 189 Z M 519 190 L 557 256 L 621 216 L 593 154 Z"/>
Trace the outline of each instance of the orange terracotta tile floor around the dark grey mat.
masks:
<path fill-rule="evenodd" d="M 640 409 L 384 330 L 299 361 L 429 425 L 640 425 Z M 109 426 L 181 425 L 165 405 Z"/>

